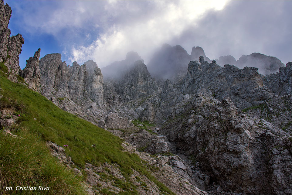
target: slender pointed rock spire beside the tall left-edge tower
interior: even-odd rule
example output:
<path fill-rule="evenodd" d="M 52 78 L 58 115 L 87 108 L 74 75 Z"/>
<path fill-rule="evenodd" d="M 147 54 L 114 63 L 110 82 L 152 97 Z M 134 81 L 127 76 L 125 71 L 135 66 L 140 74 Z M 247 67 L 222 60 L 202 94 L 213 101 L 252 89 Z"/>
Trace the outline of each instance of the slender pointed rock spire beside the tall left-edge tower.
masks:
<path fill-rule="evenodd" d="M 21 71 L 20 76 L 24 78 L 24 81 L 28 84 L 30 89 L 40 92 L 40 78 L 41 73 L 39 70 L 39 56 L 41 49 L 39 48 L 33 57 L 26 60 L 26 66 Z"/>

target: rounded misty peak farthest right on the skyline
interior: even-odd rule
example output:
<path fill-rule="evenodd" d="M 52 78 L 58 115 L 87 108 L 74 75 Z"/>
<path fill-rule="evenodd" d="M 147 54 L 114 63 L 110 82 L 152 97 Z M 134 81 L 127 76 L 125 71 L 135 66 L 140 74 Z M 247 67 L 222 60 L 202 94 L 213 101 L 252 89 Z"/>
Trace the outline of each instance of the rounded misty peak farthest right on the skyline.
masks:
<path fill-rule="evenodd" d="M 259 73 L 269 75 L 276 73 L 280 67 L 285 66 L 281 61 L 273 56 L 266 56 L 261 53 L 252 53 L 250 55 L 242 55 L 237 61 L 236 66 L 243 67 L 257 67 Z"/>

